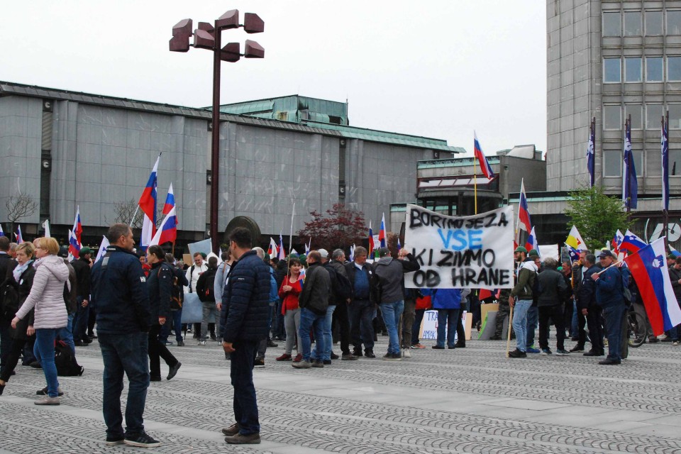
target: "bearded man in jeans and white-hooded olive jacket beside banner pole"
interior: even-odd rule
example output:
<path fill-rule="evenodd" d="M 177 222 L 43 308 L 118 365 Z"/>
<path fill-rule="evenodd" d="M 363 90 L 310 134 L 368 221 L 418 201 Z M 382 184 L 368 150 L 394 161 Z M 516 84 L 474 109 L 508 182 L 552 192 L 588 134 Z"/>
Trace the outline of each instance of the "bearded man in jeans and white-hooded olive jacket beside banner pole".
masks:
<path fill-rule="evenodd" d="M 518 263 L 516 284 L 511 289 L 509 306 L 514 308 L 513 329 L 516 332 L 516 349 L 509 352 L 509 358 L 527 358 L 527 313 L 532 306 L 532 289 L 537 278 L 537 265 L 527 257 L 527 249 L 518 246 L 513 251 L 513 258 Z"/>

